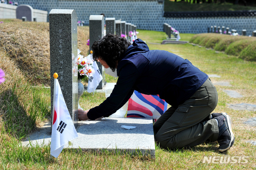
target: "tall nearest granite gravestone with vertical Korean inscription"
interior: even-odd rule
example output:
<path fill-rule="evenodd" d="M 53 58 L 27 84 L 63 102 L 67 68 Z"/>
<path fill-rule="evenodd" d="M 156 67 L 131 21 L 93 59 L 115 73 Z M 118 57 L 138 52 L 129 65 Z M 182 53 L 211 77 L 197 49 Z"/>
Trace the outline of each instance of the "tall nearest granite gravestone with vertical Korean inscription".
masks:
<path fill-rule="evenodd" d="M 65 21 L 65 22 L 63 22 Z M 77 15 L 75 10 L 53 9 L 49 13 L 50 31 L 50 87 L 51 114 L 53 113 L 53 74 L 58 73 L 58 81 L 62 89 L 69 114 L 78 126 L 78 76 L 74 76 L 72 68 L 78 55 Z"/>

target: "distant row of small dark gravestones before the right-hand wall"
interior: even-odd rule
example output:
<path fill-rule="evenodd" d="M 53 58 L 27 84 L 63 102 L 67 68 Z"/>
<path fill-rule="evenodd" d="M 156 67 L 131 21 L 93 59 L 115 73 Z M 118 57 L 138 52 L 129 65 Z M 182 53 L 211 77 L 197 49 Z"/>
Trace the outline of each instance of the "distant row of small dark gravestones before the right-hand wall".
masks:
<path fill-rule="evenodd" d="M 210 26 L 207 28 L 208 33 L 222 33 L 222 34 L 234 34 L 237 33 L 236 29 L 231 29 L 229 31 L 229 27 L 226 27 L 225 31 L 225 26 L 222 26 L 220 29 L 220 26 Z M 246 29 L 242 29 L 242 35 L 246 36 Z M 256 37 L 256 30 L 252 32 L 252 37 Z"/>

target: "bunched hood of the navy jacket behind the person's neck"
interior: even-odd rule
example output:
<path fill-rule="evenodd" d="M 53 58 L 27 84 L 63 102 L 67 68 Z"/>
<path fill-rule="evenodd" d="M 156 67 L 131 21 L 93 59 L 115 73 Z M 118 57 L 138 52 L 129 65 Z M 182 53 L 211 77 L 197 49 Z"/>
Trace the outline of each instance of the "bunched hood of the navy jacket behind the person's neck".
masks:
<path fill-rule="evenodd" d="M 133 44 L 130 45 L 124 53 L 124 56 L 130 56 L 135 53 L 145 53 L 147 51 L 149 51 L 148 45 L 141 39 L 135 39 Z"/>

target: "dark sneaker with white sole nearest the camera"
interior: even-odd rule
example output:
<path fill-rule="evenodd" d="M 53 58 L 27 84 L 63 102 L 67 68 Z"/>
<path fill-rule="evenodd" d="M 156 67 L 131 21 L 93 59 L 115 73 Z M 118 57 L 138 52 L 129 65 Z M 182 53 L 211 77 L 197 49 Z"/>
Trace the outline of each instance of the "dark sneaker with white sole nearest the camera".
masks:
<path fill-rule="evenodd" d="M 217 116 L 214 119 L 217 119 L 219 122 L 219 137 L 217 140 L 219 142 L 218 151 L 224 152 L 230 149 L 235 142 L 235 136 L 232 132 L 232 120 L 227 114 Z"/>

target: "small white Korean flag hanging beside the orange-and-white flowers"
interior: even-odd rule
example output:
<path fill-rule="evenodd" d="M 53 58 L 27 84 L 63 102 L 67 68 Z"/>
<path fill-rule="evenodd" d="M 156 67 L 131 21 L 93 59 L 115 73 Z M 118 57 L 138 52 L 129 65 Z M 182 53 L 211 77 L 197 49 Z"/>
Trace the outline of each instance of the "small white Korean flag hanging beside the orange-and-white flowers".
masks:
<path fill-rule="evenodd" d="M 95 69 L 95 73 L 88 78 L 88 87 L 87 87 L 88 93 L 94 92 L 98 87 L 98 85 L 100 84 L 100 81 L 102 80 L 102 76 L 96 61 L 94 61 L 93 67 Z"/>

